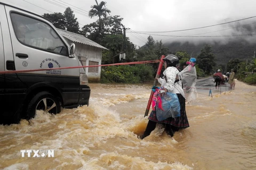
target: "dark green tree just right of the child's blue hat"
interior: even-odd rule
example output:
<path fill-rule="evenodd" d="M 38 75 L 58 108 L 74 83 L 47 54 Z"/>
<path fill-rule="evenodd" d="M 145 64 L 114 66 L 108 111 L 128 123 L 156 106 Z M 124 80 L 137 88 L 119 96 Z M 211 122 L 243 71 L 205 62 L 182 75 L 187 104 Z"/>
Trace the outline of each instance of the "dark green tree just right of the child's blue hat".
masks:
<path fill-rule="evenodd" d="M 211 53 L 212 49 L 210 45 L 205 45 L 201 49 L 201 53 L 197 56 L 197 64 L 200 69 L 204 71 L 204 74 L 210 74 L 213 67 L 216 65 L 214 59 L 215 56 Z"/>

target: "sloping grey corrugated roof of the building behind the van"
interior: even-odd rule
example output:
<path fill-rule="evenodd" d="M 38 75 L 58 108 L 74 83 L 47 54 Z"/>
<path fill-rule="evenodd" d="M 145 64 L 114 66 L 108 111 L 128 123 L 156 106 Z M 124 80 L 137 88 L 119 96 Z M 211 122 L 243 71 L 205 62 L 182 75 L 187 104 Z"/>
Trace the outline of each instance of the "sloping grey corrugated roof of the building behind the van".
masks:
<path fill-rule="evenodd" d="M 62 29 L 58 29 L 57 30 L 60 32 L 60 34 L 73 41 L 73 42 L 76 42 L 76 43 L 82 43 L 82 44 L 85 44 L 85 45 L 89 45 L 89 46 L 93 46 L 93 47 L 98 47 L 98 48 L 102 48 L 102 49 L 107 49 L 101 45 L 99 45 L 98 43 L 95 43 L 94 41 L 82 36 L 82 35 L 79 35 L 77 33 L 73 33 L 73 32 L 69 32 L 69 31 L 66 31 L 66 30 L 62 30 Z M 108 50 L 108 49 L 107 49 Z"/>

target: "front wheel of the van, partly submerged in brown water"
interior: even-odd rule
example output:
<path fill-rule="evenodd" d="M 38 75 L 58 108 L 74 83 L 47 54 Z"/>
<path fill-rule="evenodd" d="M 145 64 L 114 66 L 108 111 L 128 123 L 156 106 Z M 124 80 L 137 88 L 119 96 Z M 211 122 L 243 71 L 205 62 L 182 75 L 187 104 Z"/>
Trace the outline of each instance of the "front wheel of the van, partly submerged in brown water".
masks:
<path fill-rule="evenodd" d="M 60 102 L 50 92 L 42 91 L 36 94 L 28 104 L 27 118 L 33 118 L 36 111 L 44 111 L 44 113 L 57 114 L 60 113 Z"/>

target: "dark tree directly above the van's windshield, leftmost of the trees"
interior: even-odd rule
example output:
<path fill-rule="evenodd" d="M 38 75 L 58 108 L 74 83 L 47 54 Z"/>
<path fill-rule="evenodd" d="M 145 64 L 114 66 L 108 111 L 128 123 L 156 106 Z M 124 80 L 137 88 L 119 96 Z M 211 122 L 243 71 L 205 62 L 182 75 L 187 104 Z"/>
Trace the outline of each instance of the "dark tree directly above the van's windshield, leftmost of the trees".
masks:
<path fill-rule="evenodd" d="M 45 18 L 49 19 L 54 27 L 65 30 L 66 28 L 66 19 L 62 13 L 54 12 L 53 14 L 44 13 Z"/>

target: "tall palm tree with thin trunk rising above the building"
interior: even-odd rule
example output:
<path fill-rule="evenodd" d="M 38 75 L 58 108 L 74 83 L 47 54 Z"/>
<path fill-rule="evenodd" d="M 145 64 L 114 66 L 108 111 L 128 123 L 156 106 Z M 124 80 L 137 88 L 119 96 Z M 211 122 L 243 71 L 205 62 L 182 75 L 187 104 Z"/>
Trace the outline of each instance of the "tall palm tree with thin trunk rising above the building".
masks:
<path fill-rule="evenodd" d="M 101 1 L 98 4 L 97 0 L 95 0 L 97 5 L 92 5 L 91 10 L 89 11 L 89 16 L 92 18 L 93 16 L 99 16 L 99 44 L 100 44 L 100 31 L 101 31 L 101 16 L 107 18 L 107 13 L 109 14 L 111 11 L 106 8 L 107 2 Z M 104 6 L 104 7 L 103 7 Z"/>

